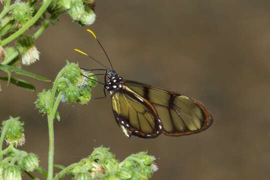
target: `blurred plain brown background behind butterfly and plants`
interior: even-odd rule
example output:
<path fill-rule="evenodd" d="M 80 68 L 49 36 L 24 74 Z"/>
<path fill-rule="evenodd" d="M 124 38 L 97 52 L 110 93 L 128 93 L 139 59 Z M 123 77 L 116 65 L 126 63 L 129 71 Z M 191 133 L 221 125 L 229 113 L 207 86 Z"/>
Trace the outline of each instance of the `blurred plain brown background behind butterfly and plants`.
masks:
<path fill-rule="evenodd" d="M 120 160 L 147 149 L 158 158 L 152 179 L 269 179 L 269 0 L 100 0 L 96 14 L 90 28 L 118 74 L 193 96 L 214 122 L 189 136 L 127 139 L 109 97 L 88 105 L 64 103 L 55 122 L 55 163 L 78 161 L 103 144 Z M 65 59 L 100 67 L 73 48 L 108 64 L 85 29 L 62 15 L 36 41 L 40 61 L 23 68 L 54 79 Z M 24 79 L 36 92 L 52 86 Z M 47 124 L 33 104 L 36 92 L 5 82 L 1 87 L 0 119 L 21 116 L 26 137 L 21 149 L 37 153 L 46 167 Z M 102 86 L 93 95 L 102 95 Z"/>

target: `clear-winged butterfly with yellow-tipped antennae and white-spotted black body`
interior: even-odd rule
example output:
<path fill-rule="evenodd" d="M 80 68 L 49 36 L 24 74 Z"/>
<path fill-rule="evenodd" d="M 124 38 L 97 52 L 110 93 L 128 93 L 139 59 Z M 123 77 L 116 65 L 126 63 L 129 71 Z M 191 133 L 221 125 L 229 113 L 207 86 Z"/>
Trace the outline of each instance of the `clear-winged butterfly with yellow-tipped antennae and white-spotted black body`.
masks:
<path fill-rule="evenodd" d="M 96 35 L 89 29 L 87 31 L 106 54 Z M 81 50 L 74 50 L 89 56 Z M 201 132 L 212 124 L 210 112 L 198 100 L 178 92 L 125 80 L 113 70 L 110 60 L 109 63 L 111 68 L 101 64 L 106 69 L 82 69 L 105 71 L 102 73 L 104 83 L 99 83 L 104 85 L 105 96 L 105 91 L 109 92 L 116 123 L 126 137 L 155 138 L 161 133 L 169 136 L 189 135 Z"/>

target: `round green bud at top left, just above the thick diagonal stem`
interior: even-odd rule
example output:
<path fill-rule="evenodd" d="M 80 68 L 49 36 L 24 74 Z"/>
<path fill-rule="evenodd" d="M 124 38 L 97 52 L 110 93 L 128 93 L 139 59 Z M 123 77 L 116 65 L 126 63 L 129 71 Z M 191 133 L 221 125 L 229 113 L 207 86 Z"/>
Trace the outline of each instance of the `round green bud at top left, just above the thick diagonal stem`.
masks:
<path fill-rule="evenodd" d="M 15 4 L 15 8 L 11 11 L 12 17 L 18 26 L 21 27 L 32 18 L 33 8 L 26 2 L 16 1 Z"/>

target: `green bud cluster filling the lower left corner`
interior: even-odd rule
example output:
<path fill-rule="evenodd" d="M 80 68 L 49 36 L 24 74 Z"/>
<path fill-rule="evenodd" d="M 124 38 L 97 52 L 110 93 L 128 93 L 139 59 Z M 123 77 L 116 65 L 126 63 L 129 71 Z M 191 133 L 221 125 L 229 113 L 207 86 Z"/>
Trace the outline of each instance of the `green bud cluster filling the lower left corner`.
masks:
<path fill-rule="evenodd" d="M 38 157 L 33 153 L 14 148 L 15 145 L 24 143 L 23 122 L 19 117 L 9 117 L 2 121 L 1 133 L 5 141 L 10 144 L 7 149 L 1 152 L 0 179 L 20 180 L 21 171 L 33 171 L 39 167 Z M 4 134 L 3 134 L 4 133 Z"/>

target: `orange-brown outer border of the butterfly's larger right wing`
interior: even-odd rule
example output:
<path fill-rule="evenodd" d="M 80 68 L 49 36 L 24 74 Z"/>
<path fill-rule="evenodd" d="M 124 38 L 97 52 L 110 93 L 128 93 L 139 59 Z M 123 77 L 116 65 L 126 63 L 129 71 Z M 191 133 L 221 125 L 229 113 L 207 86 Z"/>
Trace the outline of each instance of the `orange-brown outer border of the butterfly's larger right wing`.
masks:
<path fill-rule="evenodd" d="M 133 81 L 133 80 L 123 80 L 123 81 L 125 83 L 134 83 L 134 84 L 146 86 L 146 87 L 149 87 L 149 88 L 155 88 L 155 89 L 158 89 L 158 90 L 161 90 L 161 91 L 165 91 L 165 92 L 168 92 L 168 93 L 172 94 L 173 96 L 185 96 L 189 100 L 191 100 L 193 103 L 195 103 L 203 111 L 204 123 L 203 123 L 203 125 L 202 125 L 202 127 L 200 129 L 194 130 L 194 131 L 176 132 L 176 133 L 167 133 L 166 131 L 163 130 L 162 133 L 165 134 L 165 135 L 168 135 L 168 136 L 181 136 L 181 135 L 195 134 L 195 133 L 198 133 L 198 132 L 201 132 L 201 131 L 207 129 L 213 123 L 213 117 L 210 114 L 209 110 L 206 108 L 206 106 L 203 105 L 200 101 L 194 99 L 193 97 L 190 97 L 190 96 L 187 96 L 187 95 L 184 95 L 184 94 L 180 94 L 178 92 L 171 92 L 171 91 L 168 91 L 168 90 L 160 88 L 160 87 L 155 87 L 155 86 L 152 86 L 152 85 L 140 83 L 140 82 Z"/>

